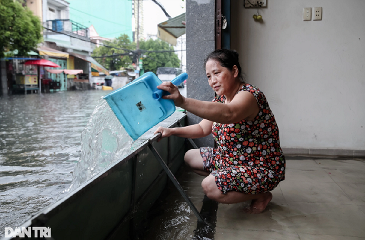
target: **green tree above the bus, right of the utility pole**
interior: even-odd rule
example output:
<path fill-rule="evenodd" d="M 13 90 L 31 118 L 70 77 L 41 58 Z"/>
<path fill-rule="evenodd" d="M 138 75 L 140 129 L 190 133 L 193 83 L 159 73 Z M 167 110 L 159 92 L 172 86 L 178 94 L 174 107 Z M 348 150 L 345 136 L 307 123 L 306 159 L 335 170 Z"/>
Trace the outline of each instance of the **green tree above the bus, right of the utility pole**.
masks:
<path fill-rule="evenodd" d="M 141 49 L 141 57 L 143 55 L 146 56 L 143 57 L 143 69 L 145 72 L 156 73 L 159 67 L 178 68 L 180 66 L 180 60 L 177 54 L 173 52 L 174 48 L 160 39 L 140 41 L 139 48 Z"/>

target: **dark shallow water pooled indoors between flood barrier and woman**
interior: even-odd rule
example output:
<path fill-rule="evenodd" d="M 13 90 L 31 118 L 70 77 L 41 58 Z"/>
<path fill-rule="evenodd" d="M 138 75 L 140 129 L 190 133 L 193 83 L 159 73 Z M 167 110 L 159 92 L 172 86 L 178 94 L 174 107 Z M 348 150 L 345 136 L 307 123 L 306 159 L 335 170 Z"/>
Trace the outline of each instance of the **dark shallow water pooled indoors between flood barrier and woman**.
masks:
<path fill-rule="evenodd" d="M 139 225 L 139 229 L 143 230 L 139 231 L 136 239 L 214 239 L 218 203 L 204 196 L 200 186 L 204 177 L 185 165 L 180 167 L 175 177 L 209 225 L 197 220 L 188 203 L 169 181 L 160 198 L 150 208 L 145 221 Z"/>

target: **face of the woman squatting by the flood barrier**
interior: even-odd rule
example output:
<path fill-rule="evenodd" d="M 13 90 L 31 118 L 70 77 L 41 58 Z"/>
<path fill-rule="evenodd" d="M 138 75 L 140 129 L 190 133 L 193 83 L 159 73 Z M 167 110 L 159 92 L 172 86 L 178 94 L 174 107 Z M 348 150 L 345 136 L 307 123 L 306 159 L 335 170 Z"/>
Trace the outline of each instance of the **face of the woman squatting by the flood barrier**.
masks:
<path fill-rule="evenodd" d="M 220 65 L 216 60 L 210 59 L 205 64 L 205 71 L 208 77 L 208 83 L 217 95 L 227 95 L 232 91 L 237 91 L 237 66 L 230 70 Z"/>

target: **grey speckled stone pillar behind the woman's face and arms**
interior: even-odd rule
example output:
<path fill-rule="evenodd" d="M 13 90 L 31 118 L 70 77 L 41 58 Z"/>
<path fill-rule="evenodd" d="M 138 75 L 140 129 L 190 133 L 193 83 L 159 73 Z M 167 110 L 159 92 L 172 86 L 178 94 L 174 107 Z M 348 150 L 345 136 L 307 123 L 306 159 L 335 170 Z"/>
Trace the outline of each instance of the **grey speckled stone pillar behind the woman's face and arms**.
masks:
<path fill-rule="evenodd" d="M 187 0 L 186 4 L 186 48 L 187 48 L 187 96 L 211 101 L 214 91 L 208 84 L 203 67 L 205 57 L 215 49 L 215 1 Z M 201 121 L 201 118 L 188 113 L 188 125 Z M 212 136 L 195 139 L 199 146 L 213 146 Z"/>

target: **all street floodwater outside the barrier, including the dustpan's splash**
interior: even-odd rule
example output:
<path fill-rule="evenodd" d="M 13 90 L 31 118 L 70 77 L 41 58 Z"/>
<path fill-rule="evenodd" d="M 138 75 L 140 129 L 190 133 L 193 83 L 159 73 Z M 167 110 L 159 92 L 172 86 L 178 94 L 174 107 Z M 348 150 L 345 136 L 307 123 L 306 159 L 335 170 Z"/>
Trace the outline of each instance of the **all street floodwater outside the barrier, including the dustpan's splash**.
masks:
<path fill-rule="evenodd" d="M 110 92 L 0 98 L 0 237 L 144 141 L 133 142 L 102 99 Z"/>

